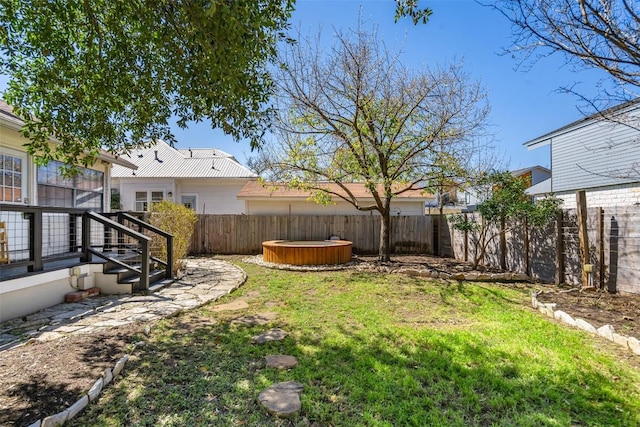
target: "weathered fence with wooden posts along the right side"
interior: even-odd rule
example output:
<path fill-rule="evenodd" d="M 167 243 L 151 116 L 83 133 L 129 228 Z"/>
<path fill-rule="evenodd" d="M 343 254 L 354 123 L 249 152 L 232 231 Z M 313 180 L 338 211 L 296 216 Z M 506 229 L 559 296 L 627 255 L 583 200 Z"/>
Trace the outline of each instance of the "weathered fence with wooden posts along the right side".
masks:
<path fill-rule="evenodd" d="M 589 281 L 610 292 L 640 293 L 640 206 L 589 208 L 586 217 L 589 264 L 593 265 Z M 477 236 L 454 230 L 450 224 L 445 231 L 446 255 L 471 261 Z M 503 244 L 494 239 L 484 263 L 540 281 L 578 285 L 583 282 L 580 254 L 578 213 L 568 209 L 546 227 L 507 231 Z"/>

